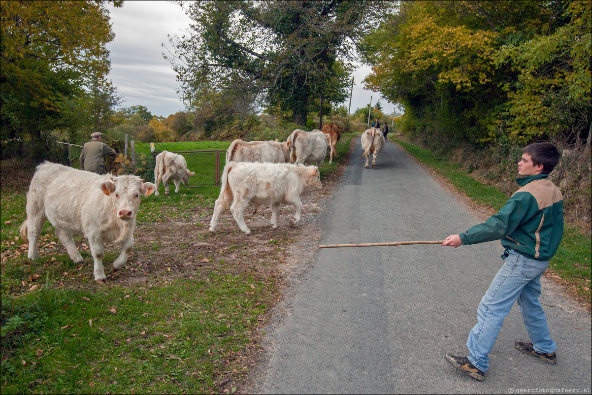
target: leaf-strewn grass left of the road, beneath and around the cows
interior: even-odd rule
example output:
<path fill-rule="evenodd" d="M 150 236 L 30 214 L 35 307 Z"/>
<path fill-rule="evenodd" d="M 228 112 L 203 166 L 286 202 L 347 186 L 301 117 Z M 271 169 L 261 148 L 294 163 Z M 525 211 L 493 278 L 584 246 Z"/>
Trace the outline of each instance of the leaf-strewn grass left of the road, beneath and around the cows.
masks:
<path fill-rule="evenodd" d="M 321 179 L 347 158 L 354 137 L 343 136 L 337 144 L 339 158 L 321 166 Z M 229 142 L 162 143 L 156 149 L 228 146 Z M 136 144 L 136 153 L 147 156 L 149 145 Z M 184 156 L 189 169 L 213 179 L 215 157 Z M 220 159 L 224 166 L 223 153 Z M 16 171 L 18 162 L 13 166 L 8 169 L 3 162 L 2 172 Z M 159 197 L 142 197 L 136 235 L 140 230 L 162 232 L 162 224 L 172 221 L 191 223 L 196 207 L 204 208 L 204 216 L 211 215 L 220 188 L 198 185 L 198 178 L 190 178 L 195 188 L 182 185 L 178 194 L 165 196 L 160 185 Z M 221 256 L 227 251 L 211 248 L 204 255 L 188 256 L 186 246 L 180 245 L 178 256 L 159 262 L 165 274 L 173 264 L 194 269 L 200 261 L 210 263 L 204 264 L 201 275 L 167 278 L 148 271 L 146 262 L 135 257 L 157 256 L 168 246 L 136 241 L 120 275 L 127 278 L 146 270 L 144 280 L 99 286 L 92 275 L 88 241 L 75 237 L 85 258 L 84 264 L 75 265 L 67 253 L 57 252 L 63 248 L 47 222 L 40 259 L 29 262 L 27 245 L 18 238 L 28 188 L 28 178 L 20 179 L 26 180 L 24 184 L 1 185 L 2 393 L 240 393 L 240 381 L 257 351 L 258 328 L 277 297 L 276 277 L 262 275 L 255 265 L 225 261 Z M 268 243 L 282 251 L 292 242 L 278 237 Z M 207 238 L 204 243 L 209 245 Z M 240 243 L 229 246 L 239 255 L 245 248 Z M 106 271 L 117 255 L 115 246 L 107 246 Z M 276 265 L 265 256 L 257 261 Z"/>

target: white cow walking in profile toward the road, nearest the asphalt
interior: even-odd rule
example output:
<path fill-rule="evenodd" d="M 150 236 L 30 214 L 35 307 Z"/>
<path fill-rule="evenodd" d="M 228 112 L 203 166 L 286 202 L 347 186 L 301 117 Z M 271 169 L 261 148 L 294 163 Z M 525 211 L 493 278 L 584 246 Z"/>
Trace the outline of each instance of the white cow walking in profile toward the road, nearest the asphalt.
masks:
<path fill-rule="evenodd" d="M 290 163 L 248 163 L 228 162 L 222 174 L 220 196 L 214 204 L 214 215 L 210 221 L 210 234 L 218 226 L 220 215 L 230 208 L 230 213 L 240 230 L 251 235 L 244 223 L 243 213 L 249 203 L 271 205 L 271 225 L 278 227 L 276 216 L 279 205 L 291 204 L 296 207 L 290 226 L 300 221 L 304 191 L 320 189 L 320 173 L 317 166 L 291 165 Z"/>

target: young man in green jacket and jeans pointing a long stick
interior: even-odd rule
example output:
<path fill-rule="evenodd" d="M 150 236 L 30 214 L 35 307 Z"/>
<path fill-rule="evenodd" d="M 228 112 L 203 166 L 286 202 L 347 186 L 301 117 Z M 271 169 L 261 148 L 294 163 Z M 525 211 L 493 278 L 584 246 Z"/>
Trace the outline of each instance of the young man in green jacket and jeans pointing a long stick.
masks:
<path fill-rule="evenodd" d="M 522 150 L 517 178 L 520 185 L 498 214 L 461 235 L 446 237 L 443 246 L 458 247 L 501 239 L 505 258 L 477 309 L 477 325 L 466 341 L 468 357 L 446 354 L 455 368 L 484 380 L 489 354 L 504 317 L 518 301 L 532 343 L 515 342 L 524 354 L 555 364 L 556 344 L 551 339 L 545 312 L 540 306 L 540 276 L 549 266 L 563 235 L 563 197 L 548 175 L 559 162 L 551 143 L 535 143 Z"/>

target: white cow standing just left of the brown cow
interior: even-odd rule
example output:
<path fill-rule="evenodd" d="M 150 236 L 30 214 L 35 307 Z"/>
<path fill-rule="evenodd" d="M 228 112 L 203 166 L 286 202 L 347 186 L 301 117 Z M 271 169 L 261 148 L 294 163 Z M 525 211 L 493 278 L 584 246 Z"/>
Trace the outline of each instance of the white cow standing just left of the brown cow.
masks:
<path fill-rule="evenodd" d="M 331 135 L 315 129 L 304 131 L 296 129 L 288 136 L 291 144 L 290 163 L 315 163 L 320 166 L 331 147 Z M 331 161 L 330 161 L 331 162 Z M 329 163 L 330 163 L 329 162 Z"/>

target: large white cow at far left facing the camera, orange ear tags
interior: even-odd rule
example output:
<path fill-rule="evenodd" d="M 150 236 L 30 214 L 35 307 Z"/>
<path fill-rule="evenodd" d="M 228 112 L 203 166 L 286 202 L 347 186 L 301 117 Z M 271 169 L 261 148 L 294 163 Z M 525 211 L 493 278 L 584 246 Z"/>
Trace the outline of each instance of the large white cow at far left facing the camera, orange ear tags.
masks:
<path fill-rule="evenodd" d="M 143 182 L 135 175 L 112 178 L 77 170 L 57 163 L 37 166 L 27 194 L 27 219 L 20 227 L 23 240 L 29 242 L 29 259 L 37 259 L 37 242 L 47 218 L 56 228 L 56 236 L 75 263 L 83 258 L 72 235 L 88 238 L 95 261 L 95 281 L 107 280 L 102 265 L 105 242 L 120 243 L 121 253 L 113 269 L 123 267 L 134 243 L 136 214 L 140 195 L 155 190 L 152 182 Z"/>

